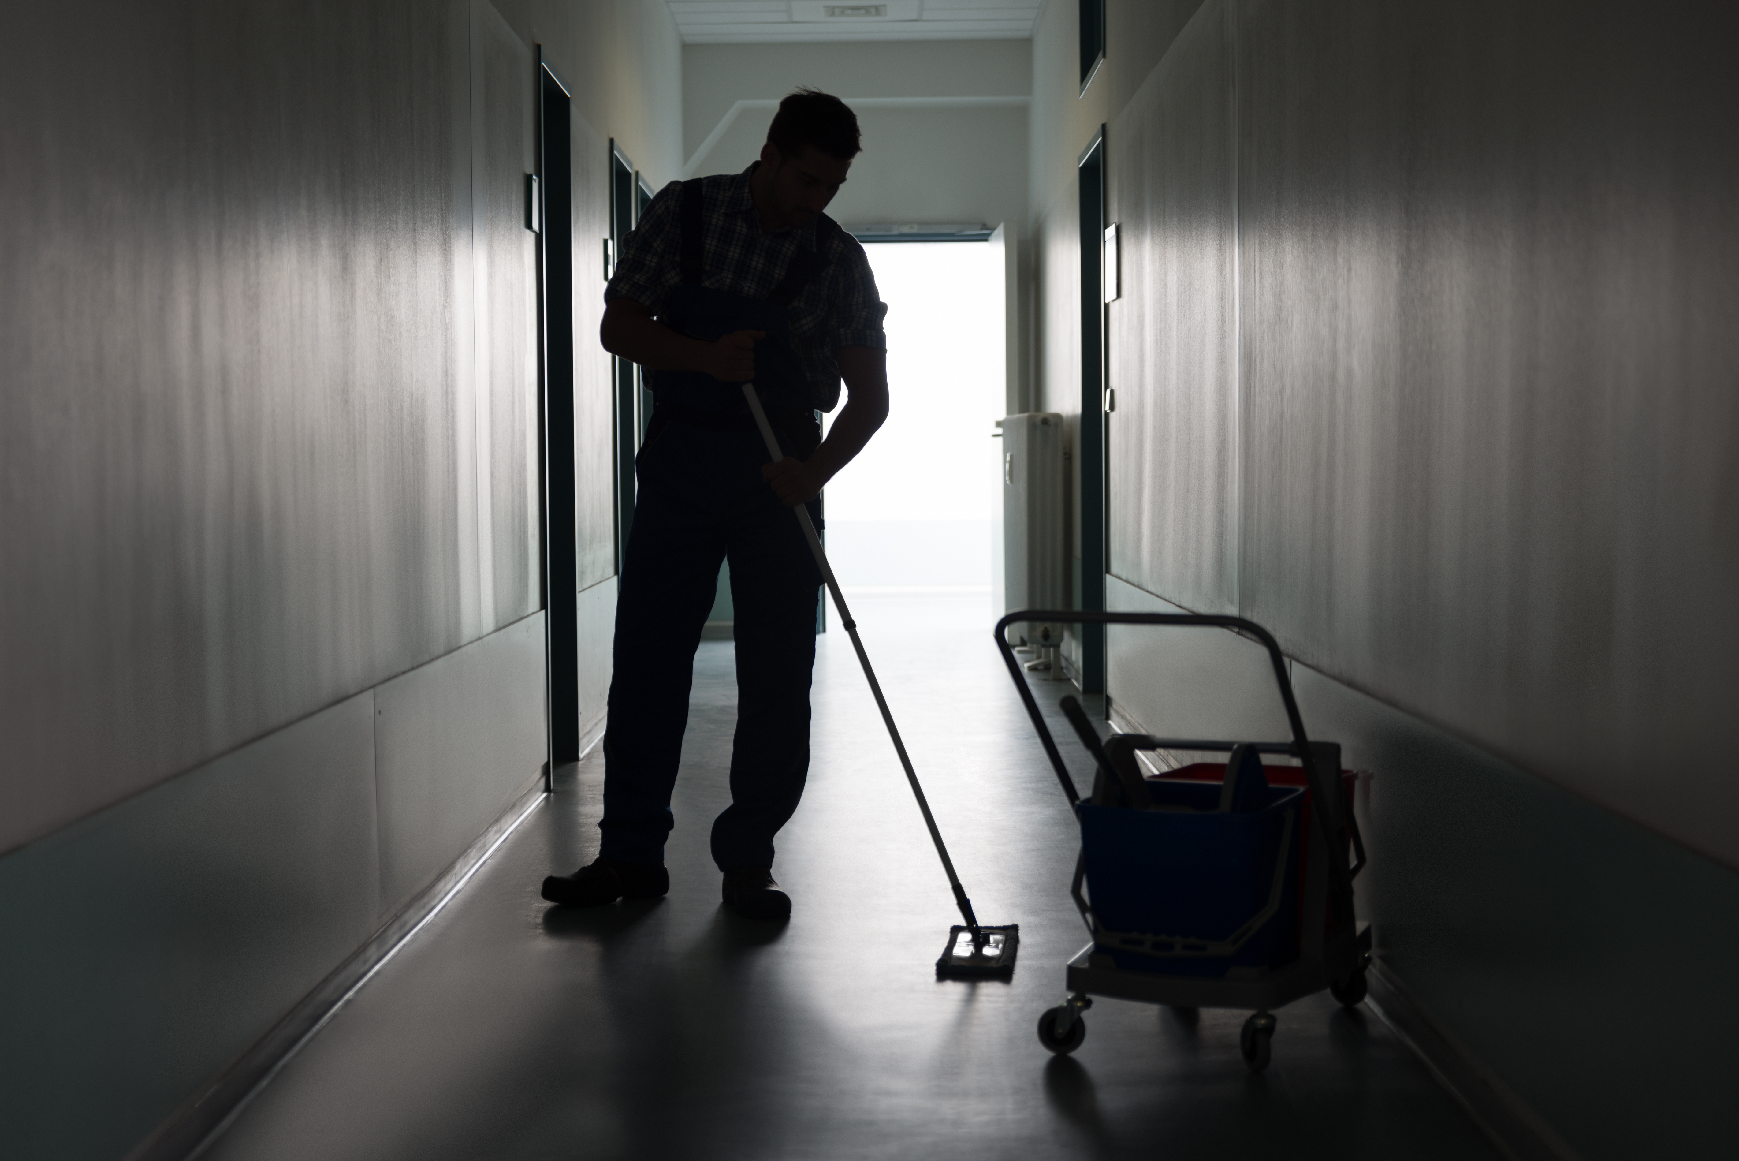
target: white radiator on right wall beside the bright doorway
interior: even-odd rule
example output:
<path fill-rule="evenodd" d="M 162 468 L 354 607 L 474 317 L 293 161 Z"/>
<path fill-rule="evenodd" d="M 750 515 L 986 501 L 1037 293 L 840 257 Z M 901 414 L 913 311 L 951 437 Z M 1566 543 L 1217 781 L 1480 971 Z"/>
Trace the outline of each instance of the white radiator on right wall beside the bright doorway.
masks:
<path fill-rule="evenodd" d="M 1028 413 L 1002 428 L 1003 613 L 1068 607 L 1063 543 L 1063 416 Z M 1014 644 L 1056 648 L 1061 625 L 1009 627 Z"/>

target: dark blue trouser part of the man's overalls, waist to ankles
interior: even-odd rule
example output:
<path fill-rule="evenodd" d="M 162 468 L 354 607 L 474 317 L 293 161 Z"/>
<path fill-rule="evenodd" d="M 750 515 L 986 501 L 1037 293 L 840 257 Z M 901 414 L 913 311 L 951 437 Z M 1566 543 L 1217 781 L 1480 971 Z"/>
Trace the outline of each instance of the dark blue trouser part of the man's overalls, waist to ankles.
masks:
<path fill-rule="evenodd" d="M 720 870 L 770 867 L 772 839 L 809 776 L 821 569 L 791 510 L 762 480 L 767 447 L 758 433 L 656 419 L 647 437 L 616 606 L 600 853 L 664 862 L 694 651 L 729 559 L 737 729 L 713 862 Z"/>

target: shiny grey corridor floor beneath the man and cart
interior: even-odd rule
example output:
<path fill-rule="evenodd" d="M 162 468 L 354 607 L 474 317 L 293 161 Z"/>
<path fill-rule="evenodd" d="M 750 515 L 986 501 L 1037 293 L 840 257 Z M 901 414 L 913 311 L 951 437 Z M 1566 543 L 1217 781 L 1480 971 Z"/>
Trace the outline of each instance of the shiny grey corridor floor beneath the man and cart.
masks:
<path fill-rule="evenodd" d="M 864 595 L 854 613 L 981 919 L 1021 924 L 1012 983 L 934 978 L 951 898 L 840 632 L 821 641 L 809 792 L 774 869 L 793 917 L 720 909 L 706 837 L 736 689 L 730 644 L 706 642 L 670 896 L 537 898 L 595 851 L 593 754 L 203 1156 L 1497 1156 L 1372 1010 L 1325 996 L 1278 1013 L 1263 1076 L 1238 1057 L 1245 1013 L 1097 1001 L 1076 1055 L 1040 1048 L 1085 931 L 1068 808 L 988 601 Z"/>

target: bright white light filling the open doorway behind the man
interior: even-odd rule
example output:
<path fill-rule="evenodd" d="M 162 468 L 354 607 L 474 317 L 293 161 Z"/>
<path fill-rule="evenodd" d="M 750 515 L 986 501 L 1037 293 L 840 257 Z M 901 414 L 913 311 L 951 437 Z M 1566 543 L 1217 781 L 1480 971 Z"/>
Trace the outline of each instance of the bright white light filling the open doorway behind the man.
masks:
<path fill-rule="evenodd" d="M 993 588 L 1002 520 L 1003 258 L 986 242 L 864 247 L 887 303 L 889 419 L 826 489 L 843 588 Z M 836 413 L 835 413 L 836 414 Z"/>

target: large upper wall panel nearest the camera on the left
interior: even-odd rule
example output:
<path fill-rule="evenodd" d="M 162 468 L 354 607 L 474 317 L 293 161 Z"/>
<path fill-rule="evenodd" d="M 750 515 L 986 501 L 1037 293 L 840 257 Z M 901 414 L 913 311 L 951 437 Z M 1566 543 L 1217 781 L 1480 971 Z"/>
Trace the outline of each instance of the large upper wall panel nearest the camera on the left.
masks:
<path fill-rule="evenodd" d="M 464 635 L 463 24 L 9 19 L 0 849 Z"/>

